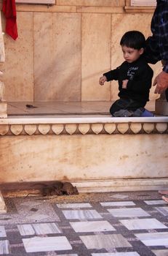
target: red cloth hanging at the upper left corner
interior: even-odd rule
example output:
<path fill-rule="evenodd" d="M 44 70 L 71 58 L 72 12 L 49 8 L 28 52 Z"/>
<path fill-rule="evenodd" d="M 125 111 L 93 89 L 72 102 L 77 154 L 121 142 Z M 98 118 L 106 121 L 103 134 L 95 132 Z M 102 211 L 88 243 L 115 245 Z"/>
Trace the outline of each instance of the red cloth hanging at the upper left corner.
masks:
<path fill-rule="evenodd" d="M 4 12 L 6 21 L 6 33 L 13 39 L 17 39 L 17 23 L 16 23 L 16 4 L 15 0 L 3 0 L 2 11 Z"/>

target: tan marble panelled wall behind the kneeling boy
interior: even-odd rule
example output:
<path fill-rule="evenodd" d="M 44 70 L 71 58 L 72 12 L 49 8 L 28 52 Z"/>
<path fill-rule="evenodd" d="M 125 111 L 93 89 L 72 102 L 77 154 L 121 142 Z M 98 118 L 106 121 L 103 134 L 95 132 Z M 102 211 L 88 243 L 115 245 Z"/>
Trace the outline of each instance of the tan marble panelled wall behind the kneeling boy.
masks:
<path fill-rule="evenodd" d="M 79 8 L 81 4 L 117 8 L 123 2 L 57 0 L 58 7 Z M 14 102 L 117 99 L 118 83 L 99 86 L 100 75 L 124 61 L 119 41 L 125 31 L 151 34 L 151 17 L 152 13 L 17 12 L 18 39 L 4 36 L 4 98 Z M 3 30 L 4 23 L 2 15 Z M 161 70 L 160 63 L 151 67 L 155 75 Z M 154 87 L 150 99 L 159 97 L 153 91 Z"/>

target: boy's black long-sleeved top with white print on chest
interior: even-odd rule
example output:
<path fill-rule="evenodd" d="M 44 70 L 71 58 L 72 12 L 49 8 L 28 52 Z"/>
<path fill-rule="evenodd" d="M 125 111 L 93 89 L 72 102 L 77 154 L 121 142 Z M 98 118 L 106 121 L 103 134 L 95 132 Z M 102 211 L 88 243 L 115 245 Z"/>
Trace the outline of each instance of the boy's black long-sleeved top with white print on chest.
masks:
<path fill-rule="evenodd" d="M 119 81 L 119 97 L 134 99 L 144 104 L 149 100 L 153 70 L 148 66 L 143 56 L 137 61 L 128 63 L 124 61 L 121 66 L 104 73 L 108 81 Z M 127 89 L 122 89 L 122 80 L 129 80 Z"/>

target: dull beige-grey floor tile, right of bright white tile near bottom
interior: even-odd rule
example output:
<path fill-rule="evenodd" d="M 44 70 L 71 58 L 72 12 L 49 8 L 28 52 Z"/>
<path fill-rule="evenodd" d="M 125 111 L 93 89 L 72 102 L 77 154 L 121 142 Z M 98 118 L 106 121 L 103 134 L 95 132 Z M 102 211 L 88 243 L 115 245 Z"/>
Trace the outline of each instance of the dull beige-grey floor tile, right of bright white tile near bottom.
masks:
<path fill-rule="evenodd" d="M 120 234 L 116 235 L 94 235 L 94 236 L 79 236 L 81 241 L 87 246 L 87 249 L 110 249 L 116 247 L 131 247 L 131 244 L 126 238 Z"/>

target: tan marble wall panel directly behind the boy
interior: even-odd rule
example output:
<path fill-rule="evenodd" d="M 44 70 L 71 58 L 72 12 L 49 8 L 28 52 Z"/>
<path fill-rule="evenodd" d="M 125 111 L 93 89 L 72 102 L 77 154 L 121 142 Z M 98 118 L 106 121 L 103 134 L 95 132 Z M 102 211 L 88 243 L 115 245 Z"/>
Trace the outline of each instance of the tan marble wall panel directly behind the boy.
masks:
<path fill-rule="evenodd" d="M 111 69 L 119 67 L 124 61 L 119 44 L 122 35 L 129 30 L 141 31 L 145 38 L 151 35 L 151 13 L 142 14 L 112 14 L 111 15 Z M 155 75 L 161 70 L 161 64 L 151 65 Z M 150 98 L 155 99 L 157 95 L 153 95 L 154 88 L 151 89 Z M 118 83 L 111 83 L 111 99 L 116 99 L 118 94 Z"/>

